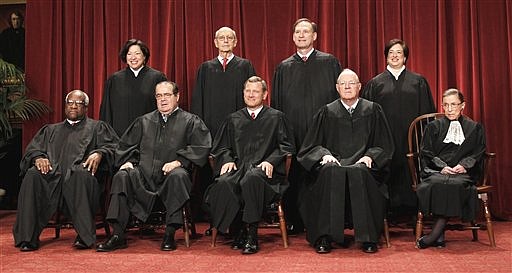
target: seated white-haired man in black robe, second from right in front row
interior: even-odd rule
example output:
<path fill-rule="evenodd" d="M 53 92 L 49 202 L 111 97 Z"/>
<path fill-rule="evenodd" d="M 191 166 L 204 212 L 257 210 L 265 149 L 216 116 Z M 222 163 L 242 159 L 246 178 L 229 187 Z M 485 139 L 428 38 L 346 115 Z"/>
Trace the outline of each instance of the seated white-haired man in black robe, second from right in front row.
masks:
<path fill-rule="evenodd" d="M 318 111 L 297 155 L 316 176 L 299 209 L 318 253 L 330 252 L 332 241 L 344 243 L 345 221 L 353 223 L 363 251 L 373 253 L 383 230 L 393 138 L 380 105 L 359 98 L 355 72 L 343 70 L 336 89 L 341 100 Z"/>

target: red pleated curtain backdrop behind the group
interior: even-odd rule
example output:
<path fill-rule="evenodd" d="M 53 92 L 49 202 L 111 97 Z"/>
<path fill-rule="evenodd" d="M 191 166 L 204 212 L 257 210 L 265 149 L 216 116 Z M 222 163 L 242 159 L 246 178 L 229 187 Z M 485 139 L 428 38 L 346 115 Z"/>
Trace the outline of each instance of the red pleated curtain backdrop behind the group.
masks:
<path fill-rule="evenodd" d="M 30 95 L 53 109 L 26 123 L 24 143 L 46 122 L 64 118 L 71 89 L 89 93 L 98 118 L 103 83 L 124 67 L 118 52 L 129 38 L 145 41 L 149 66 L 181 87 L 188 109 L 196 69 L 216 56 L 214 32 L 230 26 L 235 54 L 271 83 L 276 65 L 294 53 L 291 26 L 317 22 L 315 47 L 334 54 L 363 84 L 385 69 L 384 43 L 402 38 L 407 68 L 423 74 L 439 106 L 449 87 L 467 97 L 465 113 L 484 124 L 492 169 L 495 216 L 512 219 L 512 2 L 507 0 L 28 0 L 26 78 Z M 438 107 L 439 108 L 439 107 Z"/>

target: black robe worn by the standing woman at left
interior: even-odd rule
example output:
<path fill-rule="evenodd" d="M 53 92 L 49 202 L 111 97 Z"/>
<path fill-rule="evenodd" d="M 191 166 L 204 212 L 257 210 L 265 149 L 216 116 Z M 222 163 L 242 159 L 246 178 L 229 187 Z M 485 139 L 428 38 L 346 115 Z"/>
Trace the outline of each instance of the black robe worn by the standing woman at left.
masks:
<path fill-rule="evenodd" d="M 137 77 L 129 67 L 115 72 L 105 81 L 100 120 L 121 136 L 135 118 L 156 109 L 155 86 L 166 80 L 162 72 L 148 66 Z"/>

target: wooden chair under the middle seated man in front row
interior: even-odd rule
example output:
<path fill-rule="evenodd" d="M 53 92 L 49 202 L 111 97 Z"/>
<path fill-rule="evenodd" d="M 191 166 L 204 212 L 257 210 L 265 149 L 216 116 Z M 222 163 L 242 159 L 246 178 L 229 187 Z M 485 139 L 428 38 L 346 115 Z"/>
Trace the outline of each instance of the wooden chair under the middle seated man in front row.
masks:
<path fill-rule="evenodd" d="M 209 163 L 212 167 L 212 170 L 215 169 L 215 162 L 213 156 L 209 157 Z M 286 156 L 285 159 L 285 179 L 288 179 L 288 173 L 290 171 L 290 165 L 292 163 L 292 155 L 289 154 Z M 278 221 L 275 221 L 276 216 L 279 219 Z M 286 220 L 284 216 L 284 210 L 283 210 L 283 204 L 281 196 L 278 200 L 271 203 L 269 206 L 267 206 L 266 215 L 264 215 L 262 221 L 260 221 L 260 224 L 258 226 L 259 228 L 279 228 L 281 231 L 281 238 L 283 240 L 283 246 L 284 248 L 288 248 L 288 232 L 286 230 Z M 212 227 L 212 242 L 211 245 L 214 247 L 216 245 L 217 241 L 217 229 Z"/>

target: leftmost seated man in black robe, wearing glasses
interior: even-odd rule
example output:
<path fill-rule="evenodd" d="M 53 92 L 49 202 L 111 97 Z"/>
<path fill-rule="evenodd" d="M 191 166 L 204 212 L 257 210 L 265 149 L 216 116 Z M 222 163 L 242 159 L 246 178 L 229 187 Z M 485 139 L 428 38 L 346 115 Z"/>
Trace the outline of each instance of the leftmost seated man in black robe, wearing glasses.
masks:
<path fill-rule="evenodd" d="M 86 117 L 88 105 L 83 91 L 69 92 L 66 120 L 45 125 L 27 146 L 13 228 L 21 251 L 39 248 L 39 235 L 57 209 L 73 222 L 75 248 L 96 242 L 95 214 L 104 185 L 95 175 L 111 170 L 118 136 L 107 123 Z"/>

